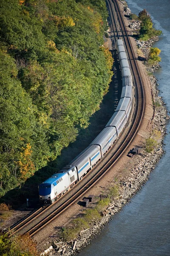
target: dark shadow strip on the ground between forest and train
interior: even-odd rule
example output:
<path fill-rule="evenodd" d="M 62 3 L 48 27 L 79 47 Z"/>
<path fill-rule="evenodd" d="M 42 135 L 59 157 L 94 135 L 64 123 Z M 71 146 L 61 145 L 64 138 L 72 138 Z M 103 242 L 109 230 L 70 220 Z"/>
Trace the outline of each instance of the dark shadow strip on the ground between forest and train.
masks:
<path fill-rule="evenodd" d="M 45 179 L 50 177 L 54 172 L 67 165 L 74 157 L 81 153 L 102 131 L 108 120 L 116 110 L 122 92 L 121 73 L 119 70 L 119 61 L 116 55 L 116 51 L 111 51 L 114 58 L 113 65 L 113 79 L 110 83 L 108 93 L 104 96 L 100 105 L 99 111 L 96 111 L 91 116 L 90 125 L 79 131 L 77 140 L 74 143 L 70 143 L 67 148 L 61 151 L 61 155 L 56 160 L 48 163 L 47 166 L 37 171 L 34 176 L 30 177 L 22 188 L 12 189 L 7 192 L 2 199 L 12 201 L 26 201 L 26 198 L 38 201 L 38 185 Z"/>

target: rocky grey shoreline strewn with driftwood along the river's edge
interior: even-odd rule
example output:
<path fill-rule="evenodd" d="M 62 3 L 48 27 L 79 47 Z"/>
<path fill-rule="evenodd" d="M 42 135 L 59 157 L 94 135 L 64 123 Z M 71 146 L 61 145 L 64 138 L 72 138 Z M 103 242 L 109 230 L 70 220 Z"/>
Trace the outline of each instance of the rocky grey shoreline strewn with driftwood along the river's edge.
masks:
<path fill-rule="evenodd" d="M 135 22 L 133 22 L 133 24 L 135 24 Z M 138 26 L 139 24 L 136 22 L 133 29 L 135 30 Z M 147 42 L 139 42 L 136 40 L 136 45 L 142 50 L 144 56 L 147 57 L 150 47 L 152 47 L 152 44 L 158 40 L 158 37 L 152 38 Z M 159 64 L 152 67 L 146 67 L 146 73 L 154 73 L 158 68 L 160 68 Z M 150 74 L 149 78 L 154 102 L 154 115 L 151 120 L 151 125 L 152 130 L 161 131 L 159 144 L 151 153 L 145 152 L 143 148 L 141 149 L 139 155 L 136 156 L 136 161 L 129 169 L 127 176 L 119 182 L 120 196 L 113 199 L 108 208 L 102 212 L 103 217 L 99 221 L 94 221 L 91 224 L 90 229 L 82 230 L 74 241 L 65 242 L 54 237 L 52 245 L 51 242 L 45 244 L 45 248 L 51 246 L 48 250 L 42 253 L 42 255 L 45 255 L 47 252 L 49 255 L 53 256 L 62 254 L 65 256 L 76 255 L 101 232 L 102 228 L 112 219 L 112 216 L 119 212 L 150 178 L 150 172 L 153 171 L 164 154 L 164 136 L 166 135 L 166 125 L 170 117 L 167 115 L 167 109 L 162 97 L 158 96 L 159 90 L 157 88 L 158 83 L 156 77 Z"/>

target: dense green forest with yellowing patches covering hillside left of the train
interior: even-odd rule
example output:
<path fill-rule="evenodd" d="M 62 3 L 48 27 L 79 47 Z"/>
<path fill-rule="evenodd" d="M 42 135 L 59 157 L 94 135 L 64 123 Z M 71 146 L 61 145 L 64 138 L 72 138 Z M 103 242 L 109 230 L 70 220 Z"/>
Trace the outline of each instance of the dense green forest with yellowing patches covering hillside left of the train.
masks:
<path fill-rule="evenodd" d="M 0 195 L 56 159 L 111 81 L 104 0 L 0 1 Z"/>

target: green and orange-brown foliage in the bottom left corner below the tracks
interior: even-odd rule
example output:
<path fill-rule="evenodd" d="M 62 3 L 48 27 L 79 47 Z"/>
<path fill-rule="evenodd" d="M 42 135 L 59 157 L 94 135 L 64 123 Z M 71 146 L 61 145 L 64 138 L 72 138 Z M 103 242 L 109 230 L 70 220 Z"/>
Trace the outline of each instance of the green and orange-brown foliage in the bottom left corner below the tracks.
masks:
<path fill-rule="evenodd" d="M 1 256 L 40 256 L 36 244 L 28 235 L 8 238 L 7 235 L 0 235 Z"/>

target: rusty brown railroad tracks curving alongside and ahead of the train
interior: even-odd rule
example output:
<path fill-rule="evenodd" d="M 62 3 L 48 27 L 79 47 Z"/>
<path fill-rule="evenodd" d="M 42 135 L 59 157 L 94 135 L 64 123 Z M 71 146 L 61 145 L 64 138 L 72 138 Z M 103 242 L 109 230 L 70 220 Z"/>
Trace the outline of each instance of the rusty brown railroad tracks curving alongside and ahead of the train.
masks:
<path fill-rule="evenodd" d="M 66 209 L 68 209 L 68 207 L 70 207 L 72 204 L 77 202 L 79 198 L 82 198 L 82 196 L 85 193 L 87 193 L 88 190 L 91 189 L 91 187 L 94 186 L 106 174 L 106 172 L 108 172 L 114 166 L 114 164 L 119 160 L 119 158 L 128 148 L 129 144 L 132 142 L 133 138 L 135 137 L 139 129 L 139 126 L 142 121 L 142 116 L 144 113 L 144 92 L 142 87 L 142 81 L 140 79 L 139 70 L 136 65 L 136 60 L 134 58 L 134 55 L 130 46 L 130 41 L 128 39 L 128 35 L 125 29 L 125 24 L 122 19 L 121 12 L 119 10 L 119 5 L 117 4 L 116 0 L 113 0 L 113 2 L 111 2 L 110 0 L 107 0 L 107 3 L 108 3 L 108 9 L 111 17 L 112 29 L 113 31 L 115 31 L 114 38 L 115 40 L 120 38 L 120 36 L 124 38 L 125 47 L 127 49 L 127 54 L 130 62 L 130 67 L 133 74 L 134 85 L 136 87 L 136 105 L 135 105 L 135 111 L 133 114 L 133 120 L 129 128 L 129 132 L 127 132 L 127 134 L 123 138 L 121 146 L 116 150 L 115 154 L 107 160 L 107 162 L 105 163 L 105 166 L 101 167 L 95 173 L 94 173 L 94 169 L 92 169 L 89 172 L 91 173 L 91 177 L 85 182 L 85 184 L 82 184 L 82 182 L 77 183 L 74 186 L 74 190 L 76 191 L 73 192 L 74 190 L 71 190 L 72 191 L 71 193 L 67 192 L 66 193 L 67 198 L 66 196 L 62 196 L 61 198 L 59 198 L 59 200 L 57 200 L 51 206 L 45 209 L 37 210 L 36 212 L 33 213 L 33 215 L 30 215 L 27 219 L 24 219 L 19 224 L 12 226 L 11 231 L 9 233 L 10 236 L 12 236 L 14 233 L 29 233 L 30 236 L 34 236 L 37 232 L 39 232 L 49 223 L 54 221 L 54 219 L 56 219 L 60 214 L 62 214 Z M 113 13 L 113 6 L 115 9 L 115 12 L 117 13 L 117 20 L 119 20 L 120 26 L 122 28 L 121 32 L 118 31 L 118 28 L 116 26 L 116 18 L 114 17 L 115 14 Z M 85 177 L 88 177 L 88 175 L 86 175 Z M 84 180 L 85 177 L 82 180 Z M 51 212 L 49 212 L 50 209 L 51 209 Z M 35 220 L 37 220 L 37 222 Z M 35 223 L 33 221 L 35 221 Z M 29 226 L 29 224 L 31 224 L 31 227 Z"/>

